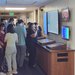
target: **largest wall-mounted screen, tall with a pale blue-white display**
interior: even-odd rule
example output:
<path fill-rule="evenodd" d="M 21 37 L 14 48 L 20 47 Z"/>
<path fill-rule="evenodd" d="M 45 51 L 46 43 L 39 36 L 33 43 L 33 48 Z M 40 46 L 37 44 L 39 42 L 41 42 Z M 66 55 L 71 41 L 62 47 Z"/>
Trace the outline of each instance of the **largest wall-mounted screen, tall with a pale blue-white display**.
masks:
<path fill-rule="evenodd" d="M 48 32 L 59 34 L 58 10 L 48 12 Z"/>

